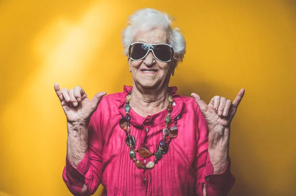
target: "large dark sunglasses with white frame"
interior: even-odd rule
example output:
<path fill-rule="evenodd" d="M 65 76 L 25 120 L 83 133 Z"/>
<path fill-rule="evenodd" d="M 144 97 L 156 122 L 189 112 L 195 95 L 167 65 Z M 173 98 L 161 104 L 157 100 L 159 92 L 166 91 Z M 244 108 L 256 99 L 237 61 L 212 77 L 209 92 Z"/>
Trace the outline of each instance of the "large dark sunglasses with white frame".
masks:
<path fill-rule="evenodd" d="M 134 42 L 128 48 L 128 54 L 134 61 L 144 59 L 149 51 L 152 51 L 153 56 L 162 62 L 169 62 L 173 59 L 174 49 L 166 43 L 148 44 L 143 42 Z"/>

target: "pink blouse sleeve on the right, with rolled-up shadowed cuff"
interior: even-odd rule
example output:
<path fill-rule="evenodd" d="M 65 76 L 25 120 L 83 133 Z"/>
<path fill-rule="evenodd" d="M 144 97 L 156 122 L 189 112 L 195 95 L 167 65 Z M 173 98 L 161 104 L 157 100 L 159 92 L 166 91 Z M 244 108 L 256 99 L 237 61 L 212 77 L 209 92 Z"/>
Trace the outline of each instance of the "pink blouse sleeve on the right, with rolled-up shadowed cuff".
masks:
<path fill-rule="evenodd" d="M 203 187 L 206 196 L 226 196 L 233 187 L 235 178 L 230 172 L 230 158 L 225 170 L 221 174 L 213 174 L 214 167 L 208 155 L 208 124 L 206 119 L 197 110 L 197 153 L 195 157 L 196 194 L 203 196 Z"/>

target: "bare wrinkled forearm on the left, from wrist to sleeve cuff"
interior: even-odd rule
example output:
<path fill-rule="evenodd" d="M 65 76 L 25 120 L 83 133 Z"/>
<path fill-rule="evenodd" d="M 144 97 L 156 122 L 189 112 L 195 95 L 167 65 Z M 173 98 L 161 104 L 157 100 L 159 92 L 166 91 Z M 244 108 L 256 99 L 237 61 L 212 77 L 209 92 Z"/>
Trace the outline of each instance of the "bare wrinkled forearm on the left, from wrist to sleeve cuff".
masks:
<path fill-rule="evenodd" d="M 78 122 L 67 122 L 67 128 L 67 157 L 77 167 L 88 148 L 88 130 Z"/>

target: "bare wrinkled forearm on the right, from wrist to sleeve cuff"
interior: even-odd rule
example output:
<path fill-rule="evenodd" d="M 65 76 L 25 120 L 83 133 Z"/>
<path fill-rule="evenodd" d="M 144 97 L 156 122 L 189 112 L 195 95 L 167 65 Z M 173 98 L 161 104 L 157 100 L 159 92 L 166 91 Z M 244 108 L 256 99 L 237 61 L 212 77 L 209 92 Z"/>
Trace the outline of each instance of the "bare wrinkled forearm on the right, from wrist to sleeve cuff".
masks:
<path fill-rule="evenodd" d="M 229 136 L 223 133 L 229 131 L 230 127 L 215 131 L 213 144 L 209 143 L 208 152 L 214 167 L 214 174 L 222 173 L 226 167 L 229 152 Z M 212 133 L 213 132 L 214 131 L 212 131 Z"/>

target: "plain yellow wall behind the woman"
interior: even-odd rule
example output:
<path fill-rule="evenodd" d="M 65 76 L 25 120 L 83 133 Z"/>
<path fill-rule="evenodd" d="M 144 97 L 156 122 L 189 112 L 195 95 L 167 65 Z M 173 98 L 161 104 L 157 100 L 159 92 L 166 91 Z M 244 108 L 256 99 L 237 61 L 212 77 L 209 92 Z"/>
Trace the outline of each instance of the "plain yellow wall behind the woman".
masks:
<path fill-rule="evenodd" d="M 209 102 L 246 89 L 231 128 L 229 196 L 295 196 L 294 0 L 1 0 L 0 196 L 71 195 L 54 82 L 89 97 L 132 84 L 121 31 L 145 7 L 184 31 L 187 53 L 171 79 L 180 94 Z"/>

